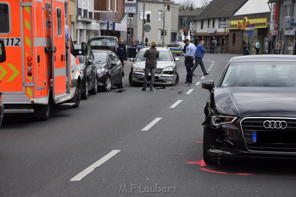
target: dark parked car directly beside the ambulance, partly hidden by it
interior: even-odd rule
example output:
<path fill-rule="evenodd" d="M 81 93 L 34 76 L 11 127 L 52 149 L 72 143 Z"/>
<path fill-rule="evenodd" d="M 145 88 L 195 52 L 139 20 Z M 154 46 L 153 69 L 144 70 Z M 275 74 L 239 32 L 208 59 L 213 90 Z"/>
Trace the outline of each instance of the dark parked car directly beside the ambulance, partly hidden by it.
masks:
<path fill-rule="evenodd" d="M 81 45 L 75 45 L 75 49 L 81 49 Z M 87 99 L 89 93 L 95 95 L 96 86 L 96 64 L 91 48 L 88 46 L 88 54 L 86 56 L 78 56 L 80 63 L 81 76 L 81 98 Z"/>

